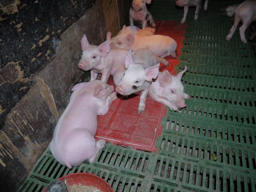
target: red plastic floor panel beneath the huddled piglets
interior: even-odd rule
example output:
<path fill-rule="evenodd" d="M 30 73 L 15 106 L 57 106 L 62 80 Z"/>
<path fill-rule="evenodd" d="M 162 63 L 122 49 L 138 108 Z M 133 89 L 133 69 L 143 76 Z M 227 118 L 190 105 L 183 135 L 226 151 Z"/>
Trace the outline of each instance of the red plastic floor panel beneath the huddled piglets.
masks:
<path fill-rule="evenodd" d="M 186 33 L 186 24 L 179 21 L 156 20 L 156 34 L 168 35 L 177 42 L 177 57 L 180 56 L 182 41 Z M 160 64 L 160 71 L 168 70 L 175 75 L 175 66 L 179 64 L 177 58 L 166 57 L 169 66 Z M 111 77 L 108 84 L 113 84 Z M 157 151 L 154 145 L 158 136 L 162 133 L 161 120 L 166 116 L 163 104 L 153 101 L 149 96 L 146 100 L 144 113 L 138 113 L 140 95 L 131 95 L 127 99 L 122 96 L 111 104 L 108 113 L 98 116 L 98 129 L 96 139 L 105 139 L 116 145 L 131 146 L 144 151 Z"/>

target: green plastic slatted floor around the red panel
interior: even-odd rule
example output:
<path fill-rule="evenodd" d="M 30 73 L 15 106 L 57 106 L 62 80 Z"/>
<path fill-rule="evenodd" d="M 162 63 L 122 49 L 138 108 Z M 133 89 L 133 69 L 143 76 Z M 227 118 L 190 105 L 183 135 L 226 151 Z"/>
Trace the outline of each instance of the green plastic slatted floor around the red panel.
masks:
<path fill-rule="evenodd" d="M 195 8 L 189 9 L 176 70 L 188 67 L 183 84 L 192 99 L 162 119 L 157 153 L 107 143 L 95 163 L 85 161 L 70 172 L 47 149 L 20 192 L 40 192 L 75 172 L 99 175 L 117 192 L 255 192 L 256 58 L 238 31 L 225 41 L 232 22 L 218 9 L 230 3 L 210 0 L 198 21 L 193 20 Z M 156 20 L 181 20 L 183 15 L 174 0 L 154 0 L 149 11 Z"/>

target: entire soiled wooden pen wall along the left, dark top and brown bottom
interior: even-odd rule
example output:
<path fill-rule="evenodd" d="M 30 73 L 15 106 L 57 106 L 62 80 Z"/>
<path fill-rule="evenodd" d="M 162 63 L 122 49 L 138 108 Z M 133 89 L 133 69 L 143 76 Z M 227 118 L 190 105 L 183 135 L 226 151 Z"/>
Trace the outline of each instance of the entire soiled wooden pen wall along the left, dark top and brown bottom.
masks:
<path fill-rule="evenodd" d="M 6 192 L 16 191 L 48 146 L 73 84 L 88 80 L 77 67 L 81 37 L 105 41 L 103 9 L 111 8 L 102 0 L 18 3 L 18 13 L 0 17 L 0 186 Z"/>

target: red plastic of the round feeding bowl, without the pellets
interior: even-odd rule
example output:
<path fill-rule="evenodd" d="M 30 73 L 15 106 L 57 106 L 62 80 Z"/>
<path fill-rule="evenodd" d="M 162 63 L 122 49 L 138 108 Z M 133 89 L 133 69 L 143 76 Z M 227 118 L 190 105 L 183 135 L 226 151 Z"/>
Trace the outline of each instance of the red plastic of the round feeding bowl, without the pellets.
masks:
<path fill-rule="evenodd" d="M 102 190 L 103 192 L 114 192 L 114 190 L 108 184 L 107 181 L 91 173 L 73 173 L 70 175 L 65 175 L 57 180 L 61 180 L 65 182 L 65 179 L 67 180 L 67 183 L 69 184 L 69 186 L 79 185 L 79 183 L 81 183 L 81 185 L 84 185 L 84 186 L 96 187 Z M 46 189 L 47 188 L 45 188 L 42 192 L 45 192 Z"/>

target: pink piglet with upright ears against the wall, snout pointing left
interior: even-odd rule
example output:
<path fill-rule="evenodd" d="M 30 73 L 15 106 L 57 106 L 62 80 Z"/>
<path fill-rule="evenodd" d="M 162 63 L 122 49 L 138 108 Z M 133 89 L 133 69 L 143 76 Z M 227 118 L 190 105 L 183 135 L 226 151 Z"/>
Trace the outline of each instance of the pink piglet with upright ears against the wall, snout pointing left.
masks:
<path fill-rule="evenodd" d="M 99 46 L 90 45 L 86 35 L 81 39 L 83 54 L 78 67 L 81 70 L 90 70 L 90 81 L 97 79 L 101 74 L 101 81 L 107 82 L 119 65 L 123 66 L 128 49 L 110 49 L 109 41 Z"/>

